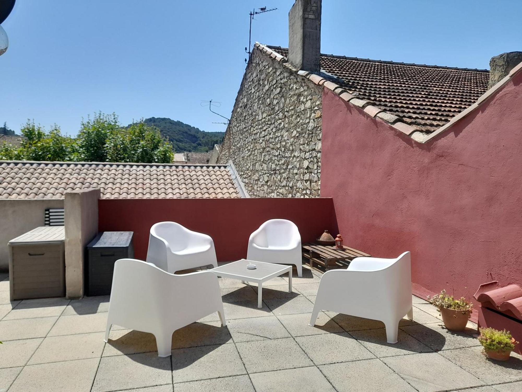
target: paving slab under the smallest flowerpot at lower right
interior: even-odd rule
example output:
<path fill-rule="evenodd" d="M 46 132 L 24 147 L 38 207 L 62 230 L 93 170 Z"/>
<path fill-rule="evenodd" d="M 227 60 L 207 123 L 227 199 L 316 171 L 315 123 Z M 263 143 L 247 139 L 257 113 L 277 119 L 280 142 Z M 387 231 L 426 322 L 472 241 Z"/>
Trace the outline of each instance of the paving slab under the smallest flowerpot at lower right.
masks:
<path fill-rule="evenodd" d="M 481 379 L 484 384 L 522 381 L 522 356 L 511 353 L 506 362 L 492 361 L 481 353 L 481 347 L 444 350 L 440 355 Z"/>

